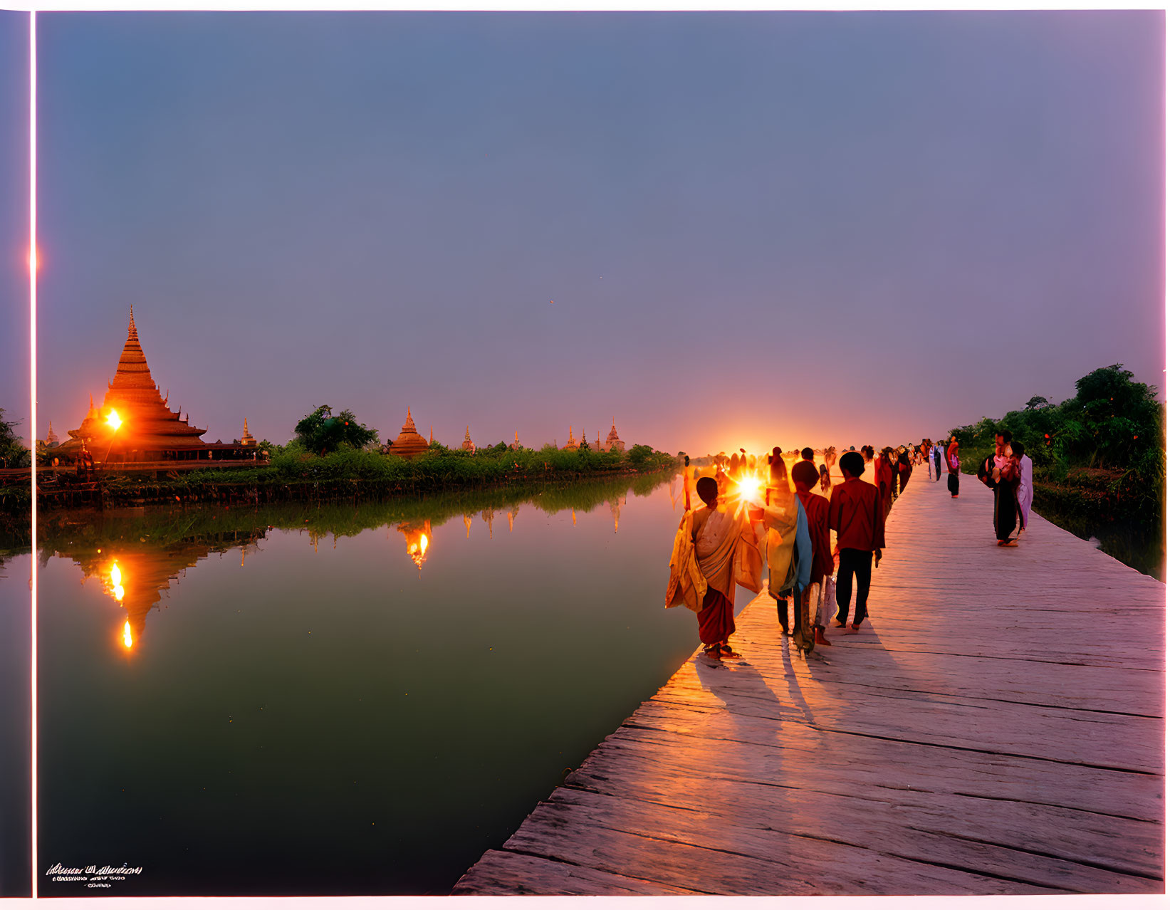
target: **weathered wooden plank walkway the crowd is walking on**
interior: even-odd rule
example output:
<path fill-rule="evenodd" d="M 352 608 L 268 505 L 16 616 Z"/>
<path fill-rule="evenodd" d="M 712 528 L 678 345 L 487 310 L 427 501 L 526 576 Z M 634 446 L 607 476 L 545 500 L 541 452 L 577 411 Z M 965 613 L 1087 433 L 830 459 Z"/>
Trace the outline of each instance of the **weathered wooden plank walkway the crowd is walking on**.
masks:
<path fill-rule="evenodd" d="M 921 469 L 887 544 L 859 633 L 757 598 L 454 892 L 1163 892 L 1165 585 Z"/>

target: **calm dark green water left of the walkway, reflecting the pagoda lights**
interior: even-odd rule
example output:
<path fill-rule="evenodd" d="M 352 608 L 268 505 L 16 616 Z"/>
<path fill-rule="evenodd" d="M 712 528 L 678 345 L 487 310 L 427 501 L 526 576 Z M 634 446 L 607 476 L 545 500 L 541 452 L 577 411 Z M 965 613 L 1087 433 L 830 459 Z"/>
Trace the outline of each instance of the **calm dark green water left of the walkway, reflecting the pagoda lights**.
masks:
<path fill-rule="evenodd" d="M 55 518 L 41 866 L 143 868 L 106 895 L 446 894 L 697 644 L 662 608 L 655 483 Z M 27 559 L 0 581 L 25 605 Z"/>

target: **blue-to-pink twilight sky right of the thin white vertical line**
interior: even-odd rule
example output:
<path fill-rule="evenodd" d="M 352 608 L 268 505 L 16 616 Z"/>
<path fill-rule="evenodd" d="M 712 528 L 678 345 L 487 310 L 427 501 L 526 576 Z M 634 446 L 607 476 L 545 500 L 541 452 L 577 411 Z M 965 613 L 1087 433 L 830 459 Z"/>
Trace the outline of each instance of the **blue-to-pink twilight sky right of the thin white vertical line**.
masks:
<path fill-rule="evenodd" d="M 39 30 L 39 436 L 130 304 L 209 441 L 329 404 L 449 444 L 882 444 L 1116 361 L 1164 384 L 1161 12 Z"/>

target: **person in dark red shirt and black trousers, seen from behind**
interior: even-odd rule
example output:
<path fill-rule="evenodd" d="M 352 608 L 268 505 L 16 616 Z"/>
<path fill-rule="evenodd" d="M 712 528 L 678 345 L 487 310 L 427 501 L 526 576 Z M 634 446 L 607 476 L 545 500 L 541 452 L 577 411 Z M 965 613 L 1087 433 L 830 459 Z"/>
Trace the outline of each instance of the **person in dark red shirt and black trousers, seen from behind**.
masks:
<path fill-rule="evenodd" d="M 828 526 L 837 531 L 840 568 L 837 572 L 837 627 L 845 628 L 848 619 L 853 577 L 858 577 L 858 601 L 853 611 L 853 628 L 869 615 L 870 560 L 881 563 L 886 546 L 886 512 L 878 488 L 861 480 L 865 462 L 855 451 L 841 456 L 845 483 L 833 488 L 828 501 Z"/>

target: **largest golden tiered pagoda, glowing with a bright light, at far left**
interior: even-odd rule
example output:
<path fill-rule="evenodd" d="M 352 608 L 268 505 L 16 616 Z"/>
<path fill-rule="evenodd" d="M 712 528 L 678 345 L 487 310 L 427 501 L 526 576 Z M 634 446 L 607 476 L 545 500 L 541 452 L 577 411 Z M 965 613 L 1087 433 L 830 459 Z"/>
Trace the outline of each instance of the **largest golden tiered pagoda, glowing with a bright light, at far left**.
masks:
<path fill-rule="evenodd" d="M 108 454 L 108 461 L 195 457 L 208 449 L 199 439 L 207 430 L 180 420 L 178 411 L 167 408 L 168 398 L 159 394 L 151 378 L 131 306 L 126 343 L 102 407 L 95 408 L 90 395 L 89 413 L 77 429 L 69 430 L 71 439 L 61 443 L 58 451 L 63 455 L 80 453 L 82 443 L 89 441 L 95 454 Z M 111 411 L 118 412 L 122 421 L 118 427 L 108 422 Z"/>

